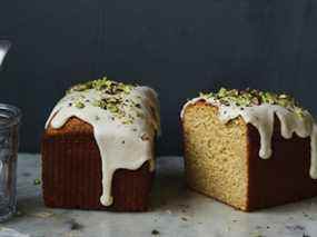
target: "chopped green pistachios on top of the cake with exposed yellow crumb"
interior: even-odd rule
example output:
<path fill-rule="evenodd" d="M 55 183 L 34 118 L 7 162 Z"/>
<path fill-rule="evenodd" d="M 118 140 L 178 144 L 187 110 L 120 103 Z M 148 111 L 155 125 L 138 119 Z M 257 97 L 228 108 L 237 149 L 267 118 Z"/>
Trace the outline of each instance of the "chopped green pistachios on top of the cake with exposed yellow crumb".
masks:
<path fill-rule="evenodd" d="M 286 93 L 275 93 L 249 88 L 245 90 L 220 88 L 219 91 L 216 93 L 200 92 L 199 97 L 207 100 L 216 100 L 222 106 L 234 105 L 237 107 L 252 107 L 260 106 L 264 103 L 275 105 L 295 111 L 300 117 L 303 117 L 304 115 L 304 109 L 294 99 L 294 97 Z"/>

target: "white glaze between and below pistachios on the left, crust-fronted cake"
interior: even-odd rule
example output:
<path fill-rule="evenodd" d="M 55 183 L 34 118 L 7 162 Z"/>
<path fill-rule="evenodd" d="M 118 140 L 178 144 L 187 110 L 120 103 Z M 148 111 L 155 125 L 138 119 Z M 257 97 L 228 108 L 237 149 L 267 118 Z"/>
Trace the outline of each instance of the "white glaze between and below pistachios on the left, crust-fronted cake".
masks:
<path fill-rule="evenodd" d="M 77 117 L 93 127 L 95 139 L 98 144 L 102 161 L 102 195 L 100 203 L 103 206 L 112 204 L 111 182 L 117 169 L 136 170 L 147 160 L 150 161 L 150 170 L 153 170 L 153 139 L 160 130 L 159 108 L 156 92 L 148 87 L 135 87 L 125 99 L 133 100 L 140 105 L 143 117 L 136 117 L 136 108 L 121 106 L 128 117 L 131 115 L 132 124 L 125 125 L 120 118 L 91 101 L 100 98 L 110 98 L 102 91 L 89 89 L 85 91 L 71 91 L 66 95 L 53 108 L 46 128 L 61 128 L 69 118 Z M 83 108 L 70 106 L 80 99 Z M 89 100 L 89 101 L 87 101 Z M 141 137 L 147 135 L 148 139 Z"/>

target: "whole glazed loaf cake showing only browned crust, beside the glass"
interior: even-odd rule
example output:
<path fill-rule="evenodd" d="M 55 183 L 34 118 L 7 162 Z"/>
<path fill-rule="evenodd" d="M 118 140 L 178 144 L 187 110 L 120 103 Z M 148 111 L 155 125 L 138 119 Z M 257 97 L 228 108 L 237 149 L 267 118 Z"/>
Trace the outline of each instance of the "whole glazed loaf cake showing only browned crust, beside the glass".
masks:
<path fill-rule="evenodd" d="M 156 92 L 107 78 L 71 87 L 42 137 L 48 207 L 145 211 L 160 130 Z"/>

